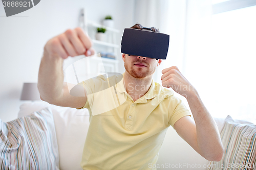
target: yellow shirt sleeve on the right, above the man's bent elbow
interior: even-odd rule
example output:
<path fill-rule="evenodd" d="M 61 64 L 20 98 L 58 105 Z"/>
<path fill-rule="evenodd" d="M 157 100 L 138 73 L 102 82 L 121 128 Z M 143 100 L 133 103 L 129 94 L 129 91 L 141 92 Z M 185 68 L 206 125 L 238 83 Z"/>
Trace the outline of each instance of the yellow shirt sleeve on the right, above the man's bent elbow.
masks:
<path fill-rule="evenodd" d="M 191 113 L 186 108 L 182 100 L 175 95 L 170 96 L 170 103 L 168 108 L 169 125 L 174 128 L 174 124 L 184 116 L 190 116 Z M 175 129 L 175 128 L 174 128 Z"/>

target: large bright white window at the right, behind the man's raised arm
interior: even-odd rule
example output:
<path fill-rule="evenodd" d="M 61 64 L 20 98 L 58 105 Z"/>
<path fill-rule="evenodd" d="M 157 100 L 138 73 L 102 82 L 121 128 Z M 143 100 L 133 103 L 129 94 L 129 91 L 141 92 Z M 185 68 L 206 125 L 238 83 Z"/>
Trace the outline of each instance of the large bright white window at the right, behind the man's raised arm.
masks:
<path fill-rule="evenodd" d="M 212 15 L 212 59 L 205 71 L 215 93 L 206 104 L 214 117 L 256 123 L 255 20 L 256 6 Z"/>

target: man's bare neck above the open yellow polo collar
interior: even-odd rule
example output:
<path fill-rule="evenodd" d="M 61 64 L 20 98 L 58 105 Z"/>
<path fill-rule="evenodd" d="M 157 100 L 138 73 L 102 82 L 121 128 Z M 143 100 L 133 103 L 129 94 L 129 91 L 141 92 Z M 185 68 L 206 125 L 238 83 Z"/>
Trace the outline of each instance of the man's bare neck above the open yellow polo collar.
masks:
<path fill-rule="evenodd" d="M 144 79 L 134 78 L 125 70 L 124 72 L 124 85 L 127 93 L 133 98 L 133 101 L 137 101 L 150 89 L 152 83 L 152 76 Z"/>

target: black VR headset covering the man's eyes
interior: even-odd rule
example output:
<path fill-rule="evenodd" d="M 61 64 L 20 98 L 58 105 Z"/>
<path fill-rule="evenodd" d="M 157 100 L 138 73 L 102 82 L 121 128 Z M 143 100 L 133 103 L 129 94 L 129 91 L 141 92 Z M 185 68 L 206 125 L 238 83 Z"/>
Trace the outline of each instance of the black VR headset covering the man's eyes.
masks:
<path fill-rule="evenodd" d="M 143 30 L 124 29 L 121 53 L 155 58 L 166 59 L 169 47 L 169 35 L 151 31 L 151 28 L 143 27 Z"/>

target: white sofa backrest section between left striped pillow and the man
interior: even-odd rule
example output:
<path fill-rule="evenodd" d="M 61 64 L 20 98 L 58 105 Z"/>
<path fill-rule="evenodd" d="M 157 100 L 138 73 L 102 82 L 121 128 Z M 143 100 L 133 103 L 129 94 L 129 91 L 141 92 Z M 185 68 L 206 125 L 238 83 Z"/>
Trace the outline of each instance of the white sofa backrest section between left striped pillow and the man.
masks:
<path fill-rule="evenodd" d="M 89 128 L 88 109 L 77 110 L 50 105 L 46 102 L 29 102 L 20 106 L 18 117 L 49 106 L 55 123 L 60 169 L 82 169 L 80 162 Z"/>

